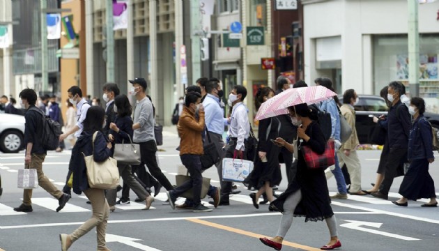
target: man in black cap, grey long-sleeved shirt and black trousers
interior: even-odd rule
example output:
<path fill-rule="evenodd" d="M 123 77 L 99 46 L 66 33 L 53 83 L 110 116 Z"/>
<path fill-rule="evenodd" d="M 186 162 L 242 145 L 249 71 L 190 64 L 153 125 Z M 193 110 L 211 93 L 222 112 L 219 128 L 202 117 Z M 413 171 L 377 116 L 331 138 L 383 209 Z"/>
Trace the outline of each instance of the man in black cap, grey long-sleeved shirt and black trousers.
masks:
<path fill-rule="evenodd" d="M 129 80 L 132 84 L 130 93 L 135 96 L 137 102 L 134 107 L 134 119 L 132 130 L 134 130 L 133 141 L 140 145 L 141 163 L 139 169 L 148 167 L 151 175 L 166 189 L 173 190 L 166 176 L 157 164 L 155 153 L 157 144 L 154 136 L 154 112 L 153 103 L 146 97 L 146 88 L 148 84 L 144 78 Z M 146 170 L 145 170 L 146 172 Z"/>

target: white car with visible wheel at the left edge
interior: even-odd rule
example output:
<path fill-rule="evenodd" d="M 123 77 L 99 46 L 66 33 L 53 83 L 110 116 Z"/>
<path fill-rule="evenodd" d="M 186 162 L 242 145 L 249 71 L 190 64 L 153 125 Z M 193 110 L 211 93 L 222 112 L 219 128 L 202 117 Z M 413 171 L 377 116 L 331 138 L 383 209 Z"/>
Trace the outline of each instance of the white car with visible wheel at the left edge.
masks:
<path fill-rule="evenodd" d="M 24 116 L 0 114 L 0 151 L 18 153 L 24 149 Z"/>

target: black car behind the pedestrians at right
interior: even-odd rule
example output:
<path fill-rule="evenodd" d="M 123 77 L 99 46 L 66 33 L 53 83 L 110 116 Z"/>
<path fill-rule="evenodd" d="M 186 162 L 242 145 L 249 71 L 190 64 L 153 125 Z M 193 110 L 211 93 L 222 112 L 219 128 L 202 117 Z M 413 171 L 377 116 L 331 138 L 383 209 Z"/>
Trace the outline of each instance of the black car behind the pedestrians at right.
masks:
<path fill-rule="evenodd" d="M 343 96 L 339 96 L 340 101 Z M 384 98 L 375 95 L 358 95 L 358 103 L 354 106 L 355 109 L 355 128 L 357 128 L 357 135 L 360 144 L 371 144 L 370 137 L 376 123 L 373 123 L 373 116 L 387 115 L 389 108 L 387 107 Z M 431 125 L 439 129 L 439 114 L 432 112 L 425 112 L 424 116 Z M 438 135 L 439 136 L 439 135 Z"/>

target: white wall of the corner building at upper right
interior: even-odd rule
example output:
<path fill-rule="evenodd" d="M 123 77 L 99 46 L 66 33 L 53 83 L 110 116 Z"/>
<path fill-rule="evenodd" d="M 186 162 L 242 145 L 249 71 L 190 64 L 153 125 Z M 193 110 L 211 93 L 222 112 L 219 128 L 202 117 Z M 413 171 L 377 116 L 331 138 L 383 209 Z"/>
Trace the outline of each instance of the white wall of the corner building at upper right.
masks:
<path fill-rule="evenodd" d="M 304 4 L 305 81 L 315 66 L 315 38 L 341 36 L 342 89 L 373 93 L 372 36 L 407 33 L 406 0 L 302 1 Z M 419 5 L 419 33 L 438 33 L 439 1 Z"/>

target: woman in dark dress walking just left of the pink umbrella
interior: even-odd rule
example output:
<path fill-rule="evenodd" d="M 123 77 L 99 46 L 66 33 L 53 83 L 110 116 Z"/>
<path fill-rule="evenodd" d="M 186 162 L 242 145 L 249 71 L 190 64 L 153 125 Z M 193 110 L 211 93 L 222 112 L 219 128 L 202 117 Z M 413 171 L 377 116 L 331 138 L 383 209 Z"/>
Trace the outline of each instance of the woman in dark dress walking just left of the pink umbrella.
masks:
<path fill-rule="evenodd" d="M 261 107 L 262 103 L 275 96 L 275 91 L 270 87 L 259 89 L 254 99 L 256 109 Z M 273 201 L 272 187 L 279 185 L 282 180 L 282 174 L 279 167 L 279 147 L 272 142 L 279 137 L 280 121 L 275 118 L 268 118 L 259 121 L 259 140 L 256 160 L 254 160 L 254 169 L 247 178 L 249 189 L 257 189 L 252 192 L 250 197 L 253 206 L 259 208 L 259 197 L 265 192 L 268 201 Z"/>

